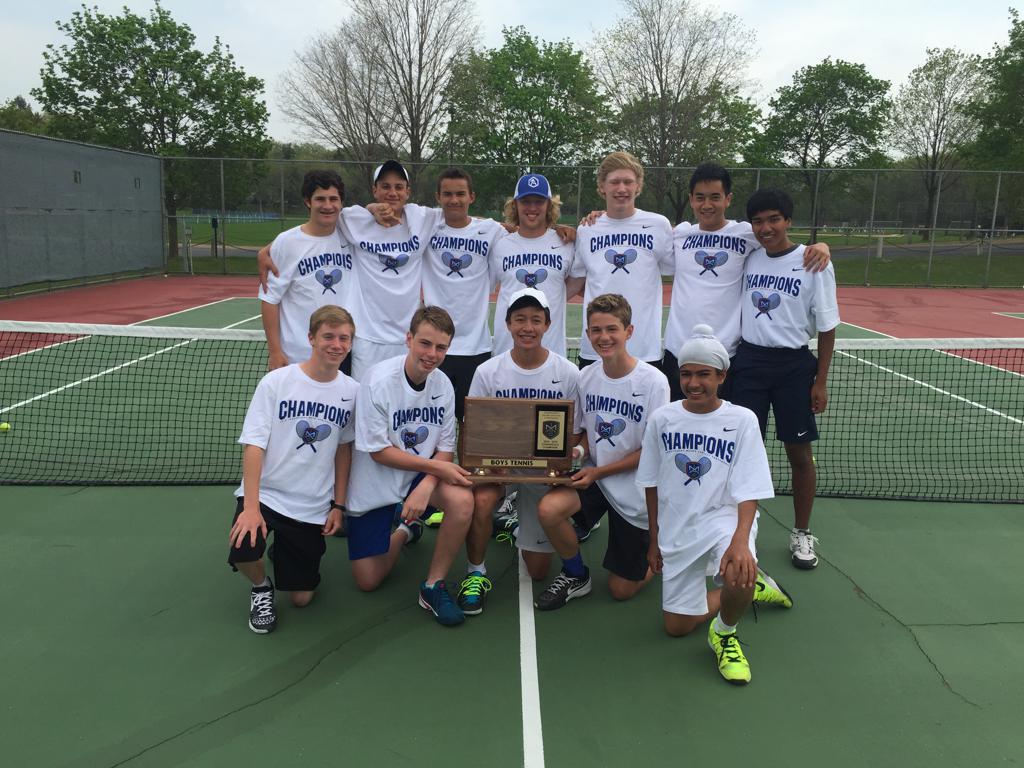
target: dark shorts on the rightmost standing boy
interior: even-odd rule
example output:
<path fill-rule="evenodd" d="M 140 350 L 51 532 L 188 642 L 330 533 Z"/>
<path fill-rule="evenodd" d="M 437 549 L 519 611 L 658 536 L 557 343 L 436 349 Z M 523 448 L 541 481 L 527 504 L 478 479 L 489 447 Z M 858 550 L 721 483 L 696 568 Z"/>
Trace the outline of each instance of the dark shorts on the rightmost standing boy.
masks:
<path fill-rule="evenodd" d="M 732 365 L 730 401 L 758 417 L 761 436 L 768 431 L 768 410 L 775 414 L 775 436 L 782 442 L 811 442 L 818 428 L 811 413 L 811 387 L 818 360 L 807 347 L 762 347 L 739 342 Z"/>

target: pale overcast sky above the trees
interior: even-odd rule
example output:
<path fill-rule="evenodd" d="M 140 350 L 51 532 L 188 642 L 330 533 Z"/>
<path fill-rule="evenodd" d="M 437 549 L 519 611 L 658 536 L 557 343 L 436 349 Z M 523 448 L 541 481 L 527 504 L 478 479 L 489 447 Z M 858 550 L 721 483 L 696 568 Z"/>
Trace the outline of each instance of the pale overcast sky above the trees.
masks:
<path fill-rule="evenodd" d="M 128 6 L 144 15 L 152 7 L 136 0 L 87 4 L 115 14 Z M 76 0 L 7 4 L 0 16 L 0 102 L 20 94 L 35 103 L 29 90 L 39 85 L 42 51 L 47 43 L 62 42 L 55 22 L 70 18 L 81 5 Z M 734 13 L 753 32 L 749 76 L 754 85 L 748 95 L 762 104 L 798 69 L 829 55 L 864 63 L 896 86 L 925 60 L 926 48 L 987 54 L 993 44 L 1007 41 L 1008 9 L 1024 7 L 1020 0 L 719 0 L 703 5 Z M 279 112 L 279 77 L 313 34 L 333 29 L 348 13 L 344 0 L 165 0 L 164 7 L 191 27 L 201 48 L 208 50 L 219 36 L 247 73 L 263 78 L 270 135 L 302 138 Z M 500 45 L 502 26 L 522 25 L 545 40 L 568 39 L 585 48 L 621 15 L 616 0 L 476 0 L 476 8 L 487 47 Z"/>

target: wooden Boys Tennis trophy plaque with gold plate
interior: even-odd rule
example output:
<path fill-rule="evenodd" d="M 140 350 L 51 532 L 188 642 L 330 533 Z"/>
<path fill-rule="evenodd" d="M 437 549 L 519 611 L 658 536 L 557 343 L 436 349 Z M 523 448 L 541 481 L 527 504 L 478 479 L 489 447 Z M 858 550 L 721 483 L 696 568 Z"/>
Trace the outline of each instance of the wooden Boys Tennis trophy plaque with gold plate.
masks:
<path fill-rule="evenodd" d="M 481 482 L 571 482 L 572 400 L 467 397 L 459 463 Z"/>

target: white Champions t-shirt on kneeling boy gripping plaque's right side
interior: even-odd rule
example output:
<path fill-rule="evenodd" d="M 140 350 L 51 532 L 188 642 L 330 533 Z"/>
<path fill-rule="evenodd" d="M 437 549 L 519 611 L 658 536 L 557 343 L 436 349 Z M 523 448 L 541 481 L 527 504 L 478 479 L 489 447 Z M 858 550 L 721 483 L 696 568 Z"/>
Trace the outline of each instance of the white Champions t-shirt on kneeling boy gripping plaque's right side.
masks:
<path fill-rule="evenodd" d="M 669 380 L 643 360 L 618 379 L 609 378 L 600 362 L 585 368 L 577 412 L 587 430 L 587 463 L 603 467 L 639 451 L 647 420 L 668 401 Z M 602 477 L 597 484 L 618 514 L 647 529 L 647 505 L 636 484 L 635 470 Z"/>

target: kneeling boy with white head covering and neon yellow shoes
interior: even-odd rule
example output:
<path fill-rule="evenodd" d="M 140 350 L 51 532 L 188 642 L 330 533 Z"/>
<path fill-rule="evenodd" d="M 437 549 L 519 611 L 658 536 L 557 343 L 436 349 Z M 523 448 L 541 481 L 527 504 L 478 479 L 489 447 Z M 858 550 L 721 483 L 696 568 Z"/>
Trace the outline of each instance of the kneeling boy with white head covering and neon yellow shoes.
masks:
<path fill-rule="evenodd" d="M 676 357 L 686 399 L 651 415 L 637 467 L 650 524 L 648 564 L 663 574 L 666 632 L 687 635 L 714 617 L 708 641 L 719 672 L 742 685 L 751 668 L 736 624 L 755 592 L 793 605 L 757 564 L 758 500 L 775 495 L 768 456 L 754 414 L 718 395 L 729 355 L 711 327 L 694 328 Z M 707 589 L 707 577 L 715 589 Z"/>

